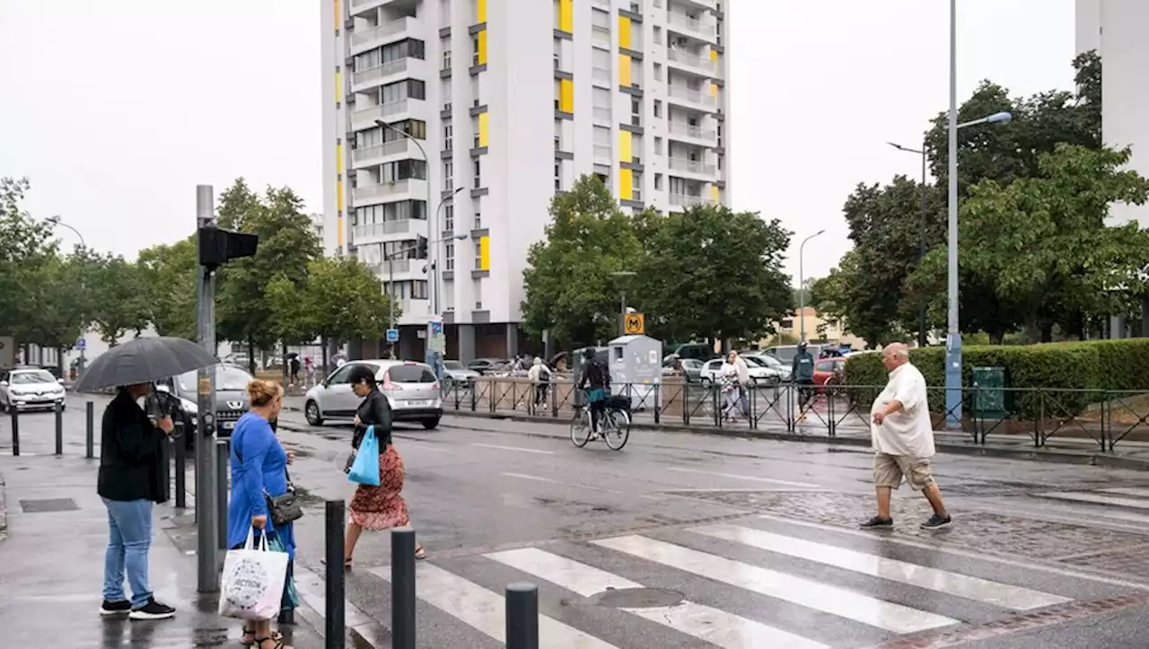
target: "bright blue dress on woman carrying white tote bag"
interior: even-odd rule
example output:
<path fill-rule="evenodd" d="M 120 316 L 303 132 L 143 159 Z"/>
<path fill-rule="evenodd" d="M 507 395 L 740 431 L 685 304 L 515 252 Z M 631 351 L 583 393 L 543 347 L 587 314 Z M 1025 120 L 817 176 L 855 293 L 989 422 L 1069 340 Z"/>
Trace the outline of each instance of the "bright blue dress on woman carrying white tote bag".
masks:
<path fill-rule="evenodd" d="M 287 493 L 287 451 L 271 424 L 255 412 L 246 412 L 231 434 L 231 502 L 228 504 L 228 547 L 247 542 L 253 516 L 267 516 L 268 539 L 278 538 L 295 558 L 292 524 L 276 528 L 268 512 L 264 490 L 272 496 Z M 259 530 L 255 531 L 259 539 Z"/>

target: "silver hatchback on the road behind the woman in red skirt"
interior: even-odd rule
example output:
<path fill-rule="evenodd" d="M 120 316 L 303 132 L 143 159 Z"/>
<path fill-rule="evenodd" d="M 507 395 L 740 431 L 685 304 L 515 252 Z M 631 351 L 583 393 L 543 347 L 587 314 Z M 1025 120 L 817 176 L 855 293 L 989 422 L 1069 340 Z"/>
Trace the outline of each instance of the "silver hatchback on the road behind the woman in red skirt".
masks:
<path fill-rule="evenodd" d="M 431 430 L 442 418 L 442 399 L 434 370 L 414 361 L 353 361 L 331 372 L 319 385 L 307 391 L 303 415 L 313 426 L 331 419 L 355 418 L 363 397 L 352 391 L 352 370 L 367 365 L 375 370 L 379 389 L 391 404 L 393 422 L 418 422 Z"/>

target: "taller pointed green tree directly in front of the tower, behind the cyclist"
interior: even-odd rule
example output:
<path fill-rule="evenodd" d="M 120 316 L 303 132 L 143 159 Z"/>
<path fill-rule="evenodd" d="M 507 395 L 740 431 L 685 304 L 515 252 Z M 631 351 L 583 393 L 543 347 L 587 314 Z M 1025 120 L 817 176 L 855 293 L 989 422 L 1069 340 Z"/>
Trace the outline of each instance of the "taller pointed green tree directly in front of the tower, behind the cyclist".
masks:
<path fill-rule="evenodd" d="M 550 216 L 546 239 L 527 250 L 524 329 L 565 343 L 614 338 L 620 285 L 611 273 L 634 271 L 641 256 L 633 224 L 594 176 L 552 199 Z"/>

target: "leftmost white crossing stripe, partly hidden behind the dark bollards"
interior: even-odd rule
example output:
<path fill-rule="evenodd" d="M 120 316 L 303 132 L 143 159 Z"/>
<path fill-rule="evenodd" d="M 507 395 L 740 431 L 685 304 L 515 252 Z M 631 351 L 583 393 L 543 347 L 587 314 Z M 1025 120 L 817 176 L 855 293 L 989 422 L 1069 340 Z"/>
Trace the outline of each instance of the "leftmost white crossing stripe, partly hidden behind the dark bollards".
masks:
<path fill-rule="evenodd" d="M 384 580 L 391 580 L 390 567 L 371 569 L 370 572 Z M 415 570 L 415 593 L 419 600 L 463 620 L 494 640 L 507 642 L 507 606 L 502 595 L 427 563 L 419 564 Z M 543 639 L 547 647 L 617 649 L 614 644 L 541 615 L 539 638 Z"/>

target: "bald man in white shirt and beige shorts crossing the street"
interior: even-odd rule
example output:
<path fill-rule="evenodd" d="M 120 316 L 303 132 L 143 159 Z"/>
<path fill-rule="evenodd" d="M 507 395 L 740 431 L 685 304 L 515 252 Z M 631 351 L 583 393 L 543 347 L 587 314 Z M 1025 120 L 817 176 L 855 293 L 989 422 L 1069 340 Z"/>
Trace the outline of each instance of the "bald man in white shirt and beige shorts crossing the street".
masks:
<path fill-rule="evenodd" d="M 926 403 L 926 379 L 910 364 L 910 349 L 901 342 L 887 345 L 881 363 L 889 381 L 870 409 L 873 424 L 873 482 L 878 494 L 878 516 L 862 524 L 863 528 L 893 527 L 889 497 L 904 478 L 910 488 L 920 490 L 934 513 L 921 524 L 923 530 L 938 530 L 950 524 L 941 500 L 941 490 L 930 471 L 934 455 L 933 425 Z"/>

